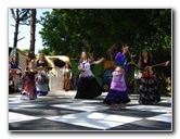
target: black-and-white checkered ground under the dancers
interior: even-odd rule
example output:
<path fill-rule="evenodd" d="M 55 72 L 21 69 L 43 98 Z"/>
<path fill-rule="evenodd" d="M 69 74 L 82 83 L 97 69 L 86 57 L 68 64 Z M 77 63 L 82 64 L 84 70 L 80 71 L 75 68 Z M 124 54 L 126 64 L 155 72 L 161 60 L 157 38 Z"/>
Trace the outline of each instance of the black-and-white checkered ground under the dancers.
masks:
<path fill-rule="evenodd" d="M 102 103 L 106 92 L 93 100 L 74 99 L 76 91 L 53 91 L 37 100 L 9 94 L 10 131 L 172 131 L 171 98 L 158 105 L 140 105 L 138 96 L 125 110 Z"/>

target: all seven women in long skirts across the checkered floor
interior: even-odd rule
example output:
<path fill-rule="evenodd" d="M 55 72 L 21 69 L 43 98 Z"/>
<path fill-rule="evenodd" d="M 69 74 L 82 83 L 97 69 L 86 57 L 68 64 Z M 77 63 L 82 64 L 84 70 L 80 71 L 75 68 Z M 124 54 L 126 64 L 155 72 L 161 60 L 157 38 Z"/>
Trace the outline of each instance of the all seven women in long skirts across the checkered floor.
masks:
<path fill-rule="evenodd" d="M 127 92 L 126 72 L 130 65 L 134 65 L 133 61 L 127 62 L 128 46 L 120 43 L 113 45 L 107 53 L 111 59 L 115 61 L 115 68 L 112 73 L 112 81 L 103 103 L 108 104 L 112 110 L 125 109 L 126 103 L 130 102 Z M 80 71 L 79 81 L 75 99 L 94 99 L 102 94 L 103 89 L 95 79 L 91 65 L 100 64 L 104 61 L 101 58 L 94 61 L 93 58 L 86 51 L 81 52 L 78 62 L 78 70 Z M 141 70 L 140 79 L 140 104 L 157 104 L 160 101 L 160 93 L 158 91 L 157 79 L 153 72 L 155 61 L 152 54 L 143 49 L 140 53 L 138 66 Z M 169 61 L 165 62 L 165 66 Z M 49 79 L 47 77 L 48 62 L 44 54 L 39 54 L 38 60 L 34 52 L 28 53 L 27 65 L 25 67 L 25 75 L 21 75 L 22 68 L 18 66 L 16 58 L 13 56 L 9 63 L 9 78 L 14 83 L 14 89 L 20 91 L 17 80 L 22 77 L 23 86 L 21 90 L 22 100 L 35 100 L 39 96 L 47 96 L 49 93 Z M 63 70 L 63 90 L 70 90 L 73 78 L 73 70 L 69 63 L 66 63 Z"/>

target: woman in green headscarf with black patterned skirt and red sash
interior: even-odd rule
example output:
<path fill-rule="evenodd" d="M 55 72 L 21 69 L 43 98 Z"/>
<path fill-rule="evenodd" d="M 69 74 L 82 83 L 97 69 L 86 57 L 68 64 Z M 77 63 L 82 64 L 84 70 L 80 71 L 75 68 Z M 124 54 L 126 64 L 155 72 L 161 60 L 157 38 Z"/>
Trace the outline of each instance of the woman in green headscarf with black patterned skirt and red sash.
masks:
<path fill-rule="evenodd" d="M 141 70 L 140 104 L 157 104 L 160 101 L 156 77 L 152 70 L 152 65 L 154 64 L 155 61 L 152 54 L 146 49 L 143 49 L 140 53 L 138 63 Z"/>

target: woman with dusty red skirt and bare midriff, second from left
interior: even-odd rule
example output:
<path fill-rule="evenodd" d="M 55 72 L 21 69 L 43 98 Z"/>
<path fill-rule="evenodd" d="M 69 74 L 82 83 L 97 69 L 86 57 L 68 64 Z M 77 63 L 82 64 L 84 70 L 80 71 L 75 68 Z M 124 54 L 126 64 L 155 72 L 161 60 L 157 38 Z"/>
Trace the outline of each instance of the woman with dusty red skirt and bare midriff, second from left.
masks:
<path fill-rule="evenodd" d="M 33 51 L 28 53 L 28 63 L 25 68 L 26 75 L 23 77 L 23 89 L 21 99 L 22 100 L 35 100 L 37 99 L 36 86 L 35 86 L 35 74 L 36 74 L 36 56 Z"/>

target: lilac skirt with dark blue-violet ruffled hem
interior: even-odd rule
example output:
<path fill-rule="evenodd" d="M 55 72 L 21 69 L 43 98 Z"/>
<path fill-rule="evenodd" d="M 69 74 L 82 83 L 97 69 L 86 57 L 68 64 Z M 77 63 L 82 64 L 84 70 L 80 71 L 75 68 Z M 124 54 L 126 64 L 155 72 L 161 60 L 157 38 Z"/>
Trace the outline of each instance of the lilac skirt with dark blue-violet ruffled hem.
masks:
<path fill-rule="evenodd" d="M 126 83 L 124 79 L 124 74 L 119 72 L 113 72 L 111 88 L 103 103 L 119 104 L 128 102 L 130 102 L 130 99 L 126 91 Z"/>

